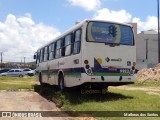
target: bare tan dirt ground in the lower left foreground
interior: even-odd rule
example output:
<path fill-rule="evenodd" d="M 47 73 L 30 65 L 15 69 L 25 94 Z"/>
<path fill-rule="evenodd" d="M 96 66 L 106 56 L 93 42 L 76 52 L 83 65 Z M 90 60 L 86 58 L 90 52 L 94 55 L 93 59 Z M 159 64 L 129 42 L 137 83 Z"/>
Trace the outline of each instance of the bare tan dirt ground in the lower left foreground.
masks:
<path fill-rule="evenodd" d="M 33 91 L 0 91 L 0 111 L 61 111 L 56 105 Z M 71 118 L 60 112 L 56 117 L 21 118 L 1 117 L 0 120 L 93 120 L 93 118 Z"/>

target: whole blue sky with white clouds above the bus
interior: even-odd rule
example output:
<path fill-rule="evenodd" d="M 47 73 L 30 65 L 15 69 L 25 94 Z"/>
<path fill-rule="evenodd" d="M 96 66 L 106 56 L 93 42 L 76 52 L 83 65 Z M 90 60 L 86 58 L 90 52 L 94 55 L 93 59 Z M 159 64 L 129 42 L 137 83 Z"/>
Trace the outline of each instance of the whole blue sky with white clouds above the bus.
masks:
<path fill-rule="evenodd" d="M 157 29 L 157 0 L 0 0 L 3 62 L 31 62 L 36 50 L 76 21 L 134 22 Z"/>

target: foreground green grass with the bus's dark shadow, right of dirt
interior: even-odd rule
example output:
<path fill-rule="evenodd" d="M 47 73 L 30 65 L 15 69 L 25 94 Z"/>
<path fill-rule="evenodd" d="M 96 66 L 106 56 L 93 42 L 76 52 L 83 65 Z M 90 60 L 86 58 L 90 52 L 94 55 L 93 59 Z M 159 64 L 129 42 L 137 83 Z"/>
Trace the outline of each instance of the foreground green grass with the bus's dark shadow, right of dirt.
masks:
<path fill-rule="evenodd" d="M 58 104 L 64 111 L 70 115 L 85 115 L 86 112 L 93 111 L 92 116 L 104 116 L 104 112 L 96 111 L 159 111 L 160 96 L 149 95 L 146 91 L 128 91 L 116 88 L 110 88 L 106 94 L 82 94 L 82 89 L 71 89 L 66 92 L 59 92 L 53 86 L 41 87 L 35 86 L 35 91 L 49 100 Z M 73 111 L 73 112 L 72 112 Z M 74 111 L 78 111 L 74 112 Z M 106 112 L 107 113 L 107 112 Z M 106 118 L 98 118 L 106 119 Z M 108 118 L 110 119 L 110 118 Z M 113 118 L 113 119 L 124 119 Z M 136 118 L 133 118 L 136 119 Z M 142 118 L 148 119 L 148 118 Z M 155 118 L 154 118 L 155 119 Z"/>

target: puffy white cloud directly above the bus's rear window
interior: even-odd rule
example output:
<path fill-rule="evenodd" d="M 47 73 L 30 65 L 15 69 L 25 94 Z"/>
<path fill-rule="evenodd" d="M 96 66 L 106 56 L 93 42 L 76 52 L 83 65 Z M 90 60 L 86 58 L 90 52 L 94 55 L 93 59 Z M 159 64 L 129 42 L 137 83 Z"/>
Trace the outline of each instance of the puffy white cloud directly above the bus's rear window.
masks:
<path fill-rule="evenodd" d="M 125 10 L 113 11 L 107 8 L 100 9 L 96 12 L 93 19 L 108 20 L 115 22 L 130 22 L 132 15 Z"/>

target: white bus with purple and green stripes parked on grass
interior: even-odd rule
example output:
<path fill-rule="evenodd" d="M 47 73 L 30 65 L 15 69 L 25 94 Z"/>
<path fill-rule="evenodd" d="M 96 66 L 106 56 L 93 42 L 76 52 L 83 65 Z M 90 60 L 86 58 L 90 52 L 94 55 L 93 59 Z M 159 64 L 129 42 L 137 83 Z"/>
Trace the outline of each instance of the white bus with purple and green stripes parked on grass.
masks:
<path fill-rule="evenodd" d="M 131 25 L 85 20 L 34 55 L 41 85 L 118 86 L 135 81 L 136 46 Z"/>

